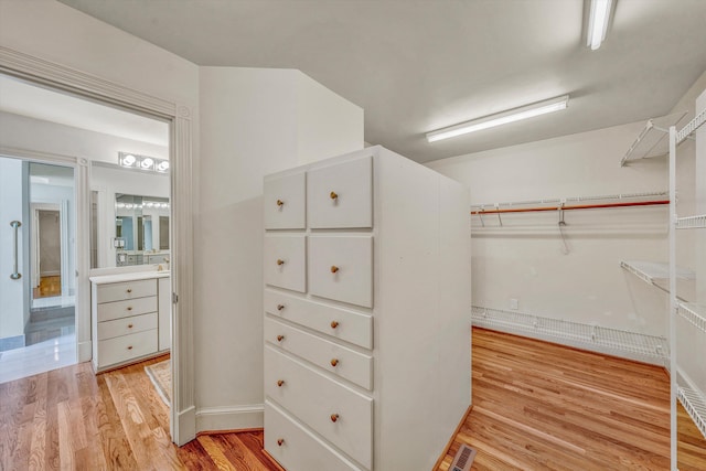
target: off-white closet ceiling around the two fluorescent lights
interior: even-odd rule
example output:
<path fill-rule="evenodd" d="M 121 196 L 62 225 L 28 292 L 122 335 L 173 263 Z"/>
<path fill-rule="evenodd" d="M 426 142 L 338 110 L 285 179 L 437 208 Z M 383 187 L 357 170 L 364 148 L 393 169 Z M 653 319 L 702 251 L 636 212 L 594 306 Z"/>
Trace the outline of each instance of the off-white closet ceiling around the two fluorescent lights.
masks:
<path fill-rule="evenodd" d="M 365 110 L 365 140 L 424 162 L 667 114 L 706 71 L 706 1 L 61 0 L 199 65 L 298 68 Z M 553 115 L 425 133 L 570 95 Z"/>

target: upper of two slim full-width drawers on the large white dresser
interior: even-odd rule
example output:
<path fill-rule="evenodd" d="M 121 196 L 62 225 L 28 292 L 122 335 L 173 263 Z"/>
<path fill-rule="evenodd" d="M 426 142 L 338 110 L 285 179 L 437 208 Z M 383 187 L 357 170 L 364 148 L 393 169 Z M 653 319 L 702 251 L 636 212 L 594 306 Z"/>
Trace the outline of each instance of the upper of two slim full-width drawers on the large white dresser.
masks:
<path fill-rule="evenodd" d="M 318 332 L 373 349 L 373 317 L 265 290 L 265 311 Z"/>

